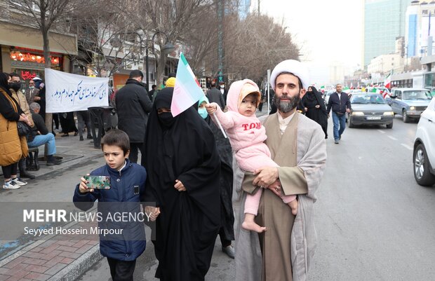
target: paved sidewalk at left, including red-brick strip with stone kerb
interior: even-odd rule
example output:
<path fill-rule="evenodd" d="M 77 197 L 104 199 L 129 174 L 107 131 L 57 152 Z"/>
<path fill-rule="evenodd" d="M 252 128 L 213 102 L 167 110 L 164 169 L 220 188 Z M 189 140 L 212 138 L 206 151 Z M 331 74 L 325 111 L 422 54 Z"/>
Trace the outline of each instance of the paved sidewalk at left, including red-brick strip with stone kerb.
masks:
<path fill-rule="evenodd" d="M 86 138 L 86 133 L 85 133 Z M 62 157 L 61 165 L 47 166 L 40 161 L 39 171 L 31 173 L 39 177 L 68 170 L 74 165 L 101 158 L 101 149 L 93 147 L 92 139 L 79 141 L 79 136 L 56 137 L 56 156 Z M 39 146 L 39 156 L 44 156 L 44 146 Z M 3 180 L 3 176 L 1 176 Z M 1 226 L 7 227 L 7 226 Z M 72 224 L 66 228 L 77 228 Z M 22 245 L 13 254 L 0 258 L 0 281 L 8 280 L 75 280 L 94 263 L 100 261 L 98 237 L 89 240 L 71 240 L 67 235 L 53 235 L 46 240 L 38 240 Z M 18 245 L 20 248 L 20 245 Z"/>

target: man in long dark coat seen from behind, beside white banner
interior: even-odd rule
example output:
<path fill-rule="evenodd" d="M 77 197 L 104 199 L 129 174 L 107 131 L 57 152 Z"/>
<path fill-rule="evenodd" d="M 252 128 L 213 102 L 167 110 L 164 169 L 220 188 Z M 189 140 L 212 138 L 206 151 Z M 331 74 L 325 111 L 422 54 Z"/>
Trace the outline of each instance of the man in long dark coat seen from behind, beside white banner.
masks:
<path fill-rule="evenodd" d="M 138 163 L 138 150 L 144 153 L 145 131 L 147 129 L 148 113 L 152 109 L 142 71 L 133 70 L 126 85 L 115 95 L 116 112 L 118 113 L 118 128 L 127 133 L 130 138 L 130 155 L 128 160 Z"/>

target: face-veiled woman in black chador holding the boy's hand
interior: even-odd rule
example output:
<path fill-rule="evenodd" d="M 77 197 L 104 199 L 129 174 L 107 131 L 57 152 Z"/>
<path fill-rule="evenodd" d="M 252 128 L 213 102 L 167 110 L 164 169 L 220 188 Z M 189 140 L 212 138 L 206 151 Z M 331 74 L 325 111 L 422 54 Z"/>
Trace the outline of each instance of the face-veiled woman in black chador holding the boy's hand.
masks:
<path fill-rule="evenodd" d="M 173 117 L 173 88 L 156 96 L 149 114 L 142 163 L 147 169 L 145 202 L 155 202 L 156 277 L 204 280 L 220 228 L 220 158 L 215 139 L 190 107 Z"/>

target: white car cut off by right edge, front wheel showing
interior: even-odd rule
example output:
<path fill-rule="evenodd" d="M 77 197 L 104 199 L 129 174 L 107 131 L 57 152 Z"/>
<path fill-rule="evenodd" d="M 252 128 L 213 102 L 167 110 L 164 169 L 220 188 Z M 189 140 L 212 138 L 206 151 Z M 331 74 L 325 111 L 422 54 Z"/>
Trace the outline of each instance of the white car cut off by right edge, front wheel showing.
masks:
<path fill-rule="evenodd" d="M 435 97 L 420 116 L 414 141 L 414 177 L 417 184 L 435 184 Z"/>

